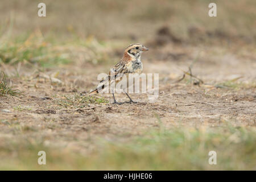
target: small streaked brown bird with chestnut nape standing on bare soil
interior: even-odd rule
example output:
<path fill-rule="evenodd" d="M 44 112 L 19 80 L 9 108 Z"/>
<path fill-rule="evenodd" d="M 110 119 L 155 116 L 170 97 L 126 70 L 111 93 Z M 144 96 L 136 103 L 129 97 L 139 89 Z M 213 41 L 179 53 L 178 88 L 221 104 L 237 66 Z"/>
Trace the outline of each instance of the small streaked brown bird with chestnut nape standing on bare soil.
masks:
<path fill-rule="evenodd" d="M 142 44 L 130 44 L 130 46 L 128 46 L 123 52 L 122 59 L 119 60 L 119 62 L 115 64 L 115 66 L 112 69 L 110 69 L 108 76 L 101 80 L 98 86 L 95 89 L 91 90 L 88 94 L 91 95 L 99 93 L 101 90 L 105 88 L 106 84 L 111 84 L 112 82 L 115 82 L 115 84 L 117 84 L 117 82 L 122 80 L 123 75 L 127 75 L 129 73 L 141 74 L 143 69 L 143 65 L 141 62 L 141 54 L 144 51 L 148 51 L 148 48 L 146 48 Z M 113 104 L 121 105 L 123 103 L 137 103 L 134 102 L 126 92 L 125 94 L 130 99 L 129 102 L 117 102 L 115 100 L 114 93 L 112 93 L 114 99 Z"/>

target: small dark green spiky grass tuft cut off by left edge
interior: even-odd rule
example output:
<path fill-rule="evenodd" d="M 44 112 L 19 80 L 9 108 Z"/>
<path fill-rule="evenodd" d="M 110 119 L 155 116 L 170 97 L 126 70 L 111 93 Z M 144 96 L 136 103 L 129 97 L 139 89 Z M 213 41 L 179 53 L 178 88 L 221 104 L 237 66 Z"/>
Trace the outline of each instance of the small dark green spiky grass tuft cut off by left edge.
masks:
<path fill-rule="evenodd" d="M 18 96 L 21 93 L 22 92 L 18 89 L 14 89 L 12 86 L 9 86 L 6 81 L 5 73 L 0 71 L 0 96 L 6 96 L 7 94 L 11 96 Z"/>

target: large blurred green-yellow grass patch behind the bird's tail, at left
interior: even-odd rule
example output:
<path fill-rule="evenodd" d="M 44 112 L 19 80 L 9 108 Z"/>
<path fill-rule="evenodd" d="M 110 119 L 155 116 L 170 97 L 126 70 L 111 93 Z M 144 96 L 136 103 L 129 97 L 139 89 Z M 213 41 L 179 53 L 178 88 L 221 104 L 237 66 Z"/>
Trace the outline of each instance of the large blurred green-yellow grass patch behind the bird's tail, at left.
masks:
<path fill-rule="evenodd" d="M 19 36 L 0 46 L 0 62 L 5 64 L 22 62 L 53 67 L 69 64 L 71 60 L 88 61 L 92 64 L 110 62 L 104 46 L 93 38 L 58 42 L 57 39 L 44 39 L 40 32 L 35 32 L 28 38 Z"/>

